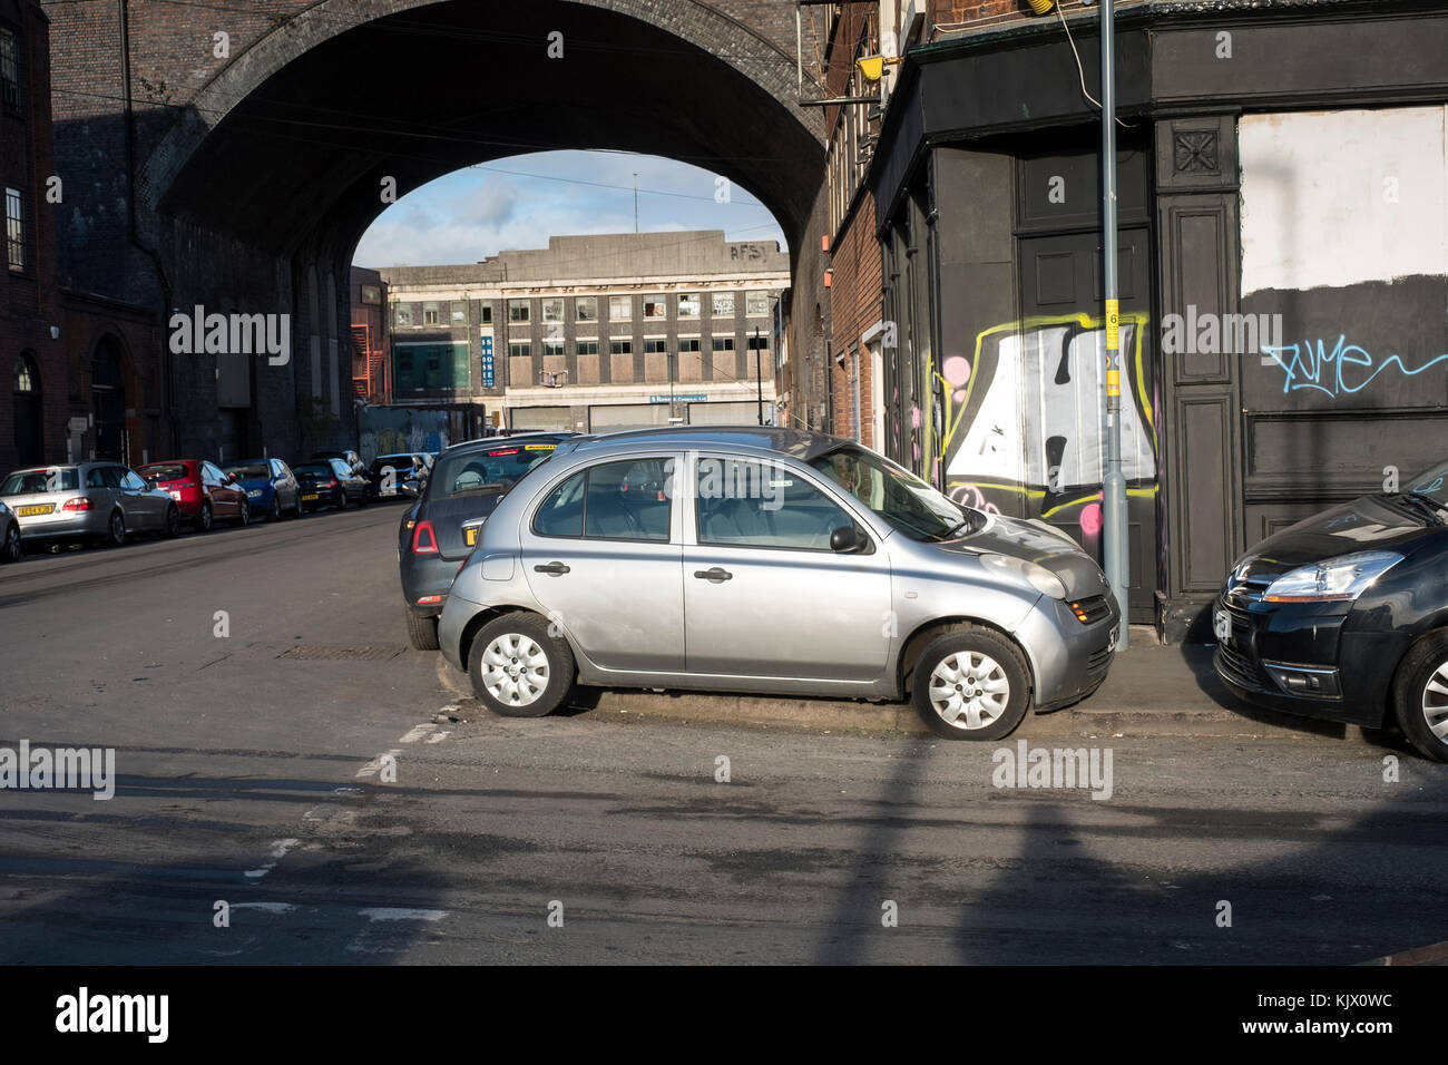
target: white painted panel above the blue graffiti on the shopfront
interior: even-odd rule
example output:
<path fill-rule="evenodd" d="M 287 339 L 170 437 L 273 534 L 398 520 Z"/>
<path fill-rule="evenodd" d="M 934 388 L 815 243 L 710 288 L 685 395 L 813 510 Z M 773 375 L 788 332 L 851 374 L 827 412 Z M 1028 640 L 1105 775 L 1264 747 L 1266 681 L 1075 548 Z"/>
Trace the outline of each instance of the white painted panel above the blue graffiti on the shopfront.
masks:
<path fill-rule="evenodd" d="M 1242 296 L 1448 274 L 1448 107 L 1244 114 Z"/>

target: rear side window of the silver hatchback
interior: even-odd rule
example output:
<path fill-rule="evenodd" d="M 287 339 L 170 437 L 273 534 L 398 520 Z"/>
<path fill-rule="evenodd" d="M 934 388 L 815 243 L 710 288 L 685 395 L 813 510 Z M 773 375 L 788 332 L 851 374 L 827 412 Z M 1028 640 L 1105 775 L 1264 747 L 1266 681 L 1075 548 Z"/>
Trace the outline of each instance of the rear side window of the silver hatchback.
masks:
<path fill-rule="evenodd" d="M 673 459 L 602 462 L 573 474 L 533 514 L 539 536 L 669 542 Z"/>

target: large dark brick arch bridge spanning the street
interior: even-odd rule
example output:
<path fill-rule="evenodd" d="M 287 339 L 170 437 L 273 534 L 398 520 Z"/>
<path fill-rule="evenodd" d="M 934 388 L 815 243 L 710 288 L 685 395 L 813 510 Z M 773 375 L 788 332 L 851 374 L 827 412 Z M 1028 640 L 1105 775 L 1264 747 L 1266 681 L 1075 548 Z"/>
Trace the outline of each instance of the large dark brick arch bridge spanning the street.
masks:
<path fill-rule="evenodd" d="M 253 436 L 297 423 L 278 449 L 340 425 L 336 390 L 330 403 L 298 397 L 317 391 L 319 349 L 326 375 L 348 343 L 348 267 L 392 183 L 398 199 L 471 164 L 555 148 L 660 155 L 730 178 L 795 251 L 822 178 L 820 114 L 795 101 L 783 1 L 262 0 L 264 14 L 236 0 L 117 1 L 130 120 L 119 74 L 67 61 L 81 30 L 104 32 L 104 6 L 49 9 L 58 170 L 81 190 L 62 213 L 68 277 L 158 310 L 290 313 L 291 378 L 259 368 L 249 397 Z M 220 32 L 229 58 L 211 59 Z M 132 187 L 116 177 L 127 129 Z M 96 255 L 106 246 L 114 254 Z M 216 369 L 171 362 L 158 375 L 175 446 L 210 452 Z"/>

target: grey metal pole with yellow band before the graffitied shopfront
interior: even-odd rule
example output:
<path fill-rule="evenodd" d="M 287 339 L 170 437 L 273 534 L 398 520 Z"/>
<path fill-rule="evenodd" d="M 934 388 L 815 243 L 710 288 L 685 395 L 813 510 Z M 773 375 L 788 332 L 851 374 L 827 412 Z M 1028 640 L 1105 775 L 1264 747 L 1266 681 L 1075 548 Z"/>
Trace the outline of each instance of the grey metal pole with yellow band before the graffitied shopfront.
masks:
<path fill-rule="evenodd" d="M 1106 478 L 1102 485 L 1102 548 L 1106 580 L 1121 606 L 1116 649 L 1128 643 L 1131 567 L 1127 543 L 1127 480 L 1121 474 L 1121 301 L 1116 270 L 1116 42 L 1115 0 L 1100 4 L 1102 252 L 1106 296 Z"/>

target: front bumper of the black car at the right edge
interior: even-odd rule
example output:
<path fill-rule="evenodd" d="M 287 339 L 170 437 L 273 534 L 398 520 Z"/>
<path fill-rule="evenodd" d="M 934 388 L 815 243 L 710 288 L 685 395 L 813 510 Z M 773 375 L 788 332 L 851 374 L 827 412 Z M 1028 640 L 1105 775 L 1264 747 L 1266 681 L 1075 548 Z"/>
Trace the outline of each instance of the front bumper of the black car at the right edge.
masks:
<path fill-rule="evenodd" d="M 1267 603 L 1228 591 L 1213 603 L 1216 675 L 1267 710 L 1378 727 L 1397 662 L 1410 642 L 1354 626 L 1351 604 Z"/>

